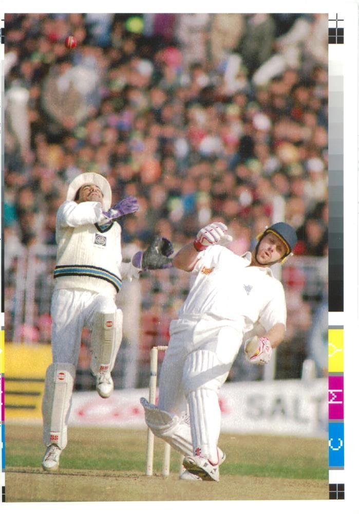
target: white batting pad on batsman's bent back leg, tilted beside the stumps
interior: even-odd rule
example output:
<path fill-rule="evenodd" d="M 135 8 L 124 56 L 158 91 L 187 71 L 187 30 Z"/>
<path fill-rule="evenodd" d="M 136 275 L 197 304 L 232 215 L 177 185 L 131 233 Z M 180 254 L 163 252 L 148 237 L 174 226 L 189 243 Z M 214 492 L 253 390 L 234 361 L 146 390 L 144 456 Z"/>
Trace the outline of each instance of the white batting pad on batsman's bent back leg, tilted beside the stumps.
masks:
<path fill-rule="evenodd" d="M 141 405 L 145 410 L 145 420 L 148 428 L 156 435 L 183 455 L 192 455 L 191 427 L 186 420 L 185 413 L 182 417 L 169 412 L 161 411 L 141 398 Z"/>

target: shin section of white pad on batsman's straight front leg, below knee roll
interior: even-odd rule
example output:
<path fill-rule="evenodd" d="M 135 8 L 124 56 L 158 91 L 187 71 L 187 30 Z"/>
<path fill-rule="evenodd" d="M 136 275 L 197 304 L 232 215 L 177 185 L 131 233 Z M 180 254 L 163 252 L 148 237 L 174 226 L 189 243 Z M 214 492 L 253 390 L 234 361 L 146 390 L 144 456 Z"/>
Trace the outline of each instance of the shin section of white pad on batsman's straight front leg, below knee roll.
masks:
<path fill-rule="evenodd" d="M 193 453 L 218 462 L 217 442 L 221 426 L 221 411 L 217 392 L 211 389 L 192 391 L 187 396 L 191 418 Z"/>

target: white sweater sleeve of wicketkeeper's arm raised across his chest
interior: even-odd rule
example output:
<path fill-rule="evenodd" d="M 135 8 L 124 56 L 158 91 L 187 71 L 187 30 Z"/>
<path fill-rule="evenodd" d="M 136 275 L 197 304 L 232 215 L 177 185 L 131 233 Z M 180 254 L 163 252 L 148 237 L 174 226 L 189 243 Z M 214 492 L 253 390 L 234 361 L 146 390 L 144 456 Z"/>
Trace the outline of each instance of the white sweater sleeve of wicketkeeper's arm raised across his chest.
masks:
<path fill-rule="evenodd" d="M 106 218 L 102 214 L 102 205 L 99 201 L 65 201 L 58 211 L 58 224 L 60 227 L 78 227 L 101 223 Z"/>

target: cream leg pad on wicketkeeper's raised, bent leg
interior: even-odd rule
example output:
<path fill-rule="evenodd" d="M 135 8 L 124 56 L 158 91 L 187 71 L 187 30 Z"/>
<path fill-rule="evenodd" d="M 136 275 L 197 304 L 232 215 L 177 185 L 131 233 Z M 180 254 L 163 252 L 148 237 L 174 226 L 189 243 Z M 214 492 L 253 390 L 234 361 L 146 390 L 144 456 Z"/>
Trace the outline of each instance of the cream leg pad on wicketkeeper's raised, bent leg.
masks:
<path fill-rule="evenodd" d="M 91 371 L 112 371 L 122 340 L 122 310 L 116 313 L 96 313 L 91 333 Z"/>

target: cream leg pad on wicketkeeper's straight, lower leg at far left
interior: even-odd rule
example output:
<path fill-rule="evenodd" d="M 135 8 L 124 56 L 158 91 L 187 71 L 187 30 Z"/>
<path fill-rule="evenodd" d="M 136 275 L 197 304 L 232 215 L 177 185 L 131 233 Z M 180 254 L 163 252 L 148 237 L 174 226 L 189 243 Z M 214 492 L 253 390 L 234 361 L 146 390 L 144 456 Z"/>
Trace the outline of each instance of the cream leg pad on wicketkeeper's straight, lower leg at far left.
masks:
<path fill-rule="evenodd" d="M 44 444 L 67 445 L 67 422 L 75 380 L 75 367 L 67 363 L 50 364 L 46 370 L 42 402 Z"/>

